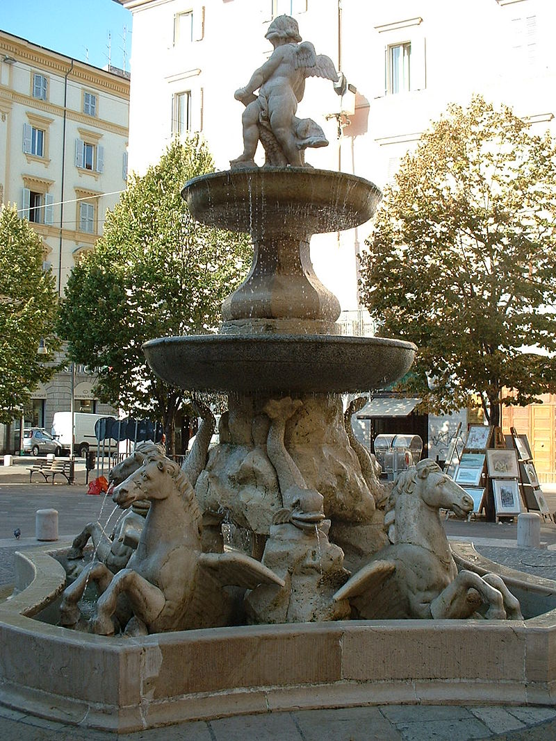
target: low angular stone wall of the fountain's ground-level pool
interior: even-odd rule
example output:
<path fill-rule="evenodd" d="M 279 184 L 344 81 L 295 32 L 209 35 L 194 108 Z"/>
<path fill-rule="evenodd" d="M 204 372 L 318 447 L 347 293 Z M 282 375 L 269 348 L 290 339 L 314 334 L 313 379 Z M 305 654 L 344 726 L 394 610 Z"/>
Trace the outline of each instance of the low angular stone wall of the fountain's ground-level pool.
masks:
<path fill-rule="evenodd" d="M 105 638 L 41 622 L 56 614 L 65 578 L 47 551 L 17 554 L 21 591 L 0 603 L 0 702 L 26 713 L 124 733 L 294 708 L 556 701 L 556 582 L 548 579 L 498 568 L 517 597 L 552 608 L 521 622 L 322 622 Z M 469 547 L 462 558 L 480 568 Z"/>

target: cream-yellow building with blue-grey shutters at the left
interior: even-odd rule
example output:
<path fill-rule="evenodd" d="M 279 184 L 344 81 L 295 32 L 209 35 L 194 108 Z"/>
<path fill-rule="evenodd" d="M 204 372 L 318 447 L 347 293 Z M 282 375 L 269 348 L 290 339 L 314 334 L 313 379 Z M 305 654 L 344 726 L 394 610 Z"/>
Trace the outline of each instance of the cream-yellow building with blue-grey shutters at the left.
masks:
<path fill-rule="evenodd" d="M 60 296 L 125 189 L 129 88 L 123 74 L 0 31 L 0 202 L 16 204 L 41 237 Z M 25 424 L 50 428 L 55 411 L 69 411 L 72 378 L 68 370 L 39 388 Z M 76 411 L 107 411 L 85 369 L 73 386 Z M 13 430 L 0 433 L 0 447 L 15 445 Z"/>

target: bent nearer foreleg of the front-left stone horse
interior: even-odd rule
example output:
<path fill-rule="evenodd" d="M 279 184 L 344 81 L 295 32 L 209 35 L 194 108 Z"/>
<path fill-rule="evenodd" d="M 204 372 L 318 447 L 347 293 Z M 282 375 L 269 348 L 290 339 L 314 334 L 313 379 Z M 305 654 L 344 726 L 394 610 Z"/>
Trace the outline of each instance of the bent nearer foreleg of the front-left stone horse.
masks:
<path fill-rule="evenodd" d="M 122 569 L 113 576 L 110 588 L 96 603 L 96 616 L 90 622 L 93 633 L 104 636 L 113 634 L 112 616 L 116 612 L 119 594 L 123 592 L 128 598 L 133 614 L 147 626 L 159 616 L 166 602 L 164 593 L 158 587 L 139 576 L 133 569 Z"/>

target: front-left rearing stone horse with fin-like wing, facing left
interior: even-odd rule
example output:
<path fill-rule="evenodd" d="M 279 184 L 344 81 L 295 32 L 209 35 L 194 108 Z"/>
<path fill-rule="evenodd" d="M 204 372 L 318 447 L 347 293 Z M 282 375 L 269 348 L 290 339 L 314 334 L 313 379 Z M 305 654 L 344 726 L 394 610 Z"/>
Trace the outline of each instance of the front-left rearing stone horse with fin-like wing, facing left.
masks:
<path fill-rule="evenodd" d="M 88 582 L 101 593 L 89 628 L 102 635 L 117 628 L 144 635 L 229 625 L 236 605 L 225 585 L 283 585 L 250 556 L 202 553 L 202 518 L 193 488 L 165 456 L 148 455 L 141 468 L 114 488 L 113 501 L 122 508 L 139 499 L 148 499 L 150 508 L 127 568 L 114 575 L 105 564 L 90 564 L 64 591 L 61 625 L 79 622 L 78 602 Z"/>

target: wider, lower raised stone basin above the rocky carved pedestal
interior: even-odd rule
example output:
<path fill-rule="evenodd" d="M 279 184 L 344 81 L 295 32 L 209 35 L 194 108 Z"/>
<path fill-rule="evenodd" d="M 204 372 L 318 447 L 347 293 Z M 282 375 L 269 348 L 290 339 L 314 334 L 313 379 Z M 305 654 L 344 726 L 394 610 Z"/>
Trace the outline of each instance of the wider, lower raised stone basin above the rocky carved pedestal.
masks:
<path fill-rule="evenodd" d="M 188 391 L 357 392 L 404 376 L 417 348 L 382 337 L 192 335 L 145 342 L 150 368 Z"/>

